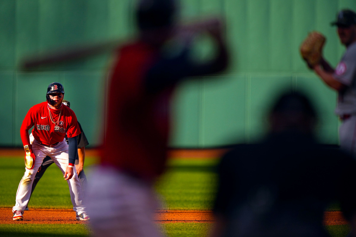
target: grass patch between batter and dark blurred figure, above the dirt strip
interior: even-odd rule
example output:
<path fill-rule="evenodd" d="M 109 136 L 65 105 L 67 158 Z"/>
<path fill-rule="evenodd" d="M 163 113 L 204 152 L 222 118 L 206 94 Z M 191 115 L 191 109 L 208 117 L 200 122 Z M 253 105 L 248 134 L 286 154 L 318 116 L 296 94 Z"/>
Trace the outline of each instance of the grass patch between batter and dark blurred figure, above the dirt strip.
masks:
<path fill-rule="evenodd" d="M 216 160 L 180 159 L 169 162 L 168 172 L 156 185 L 163 210 L 212 210 L 216 189 Z"/>

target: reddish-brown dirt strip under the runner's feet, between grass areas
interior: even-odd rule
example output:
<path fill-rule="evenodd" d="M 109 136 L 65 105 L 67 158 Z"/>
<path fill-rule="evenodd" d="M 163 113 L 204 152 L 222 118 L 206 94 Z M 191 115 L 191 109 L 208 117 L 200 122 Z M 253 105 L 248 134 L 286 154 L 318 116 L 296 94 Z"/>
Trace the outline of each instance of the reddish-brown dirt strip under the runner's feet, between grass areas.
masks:
<path fill-rule="evenodd" d="M 0 208 L 0 224 L 85 224 L 86 221 L 75 220 L 75 212 L 71 209 L 31 209 L 25 211 L 23 221 L 12 221 L 11 208 Z M 211 211 L 156 211 L 155 222 L 214 222 Z M 346 225 L 340 211 L 327 211 L 324 225 Z"/>

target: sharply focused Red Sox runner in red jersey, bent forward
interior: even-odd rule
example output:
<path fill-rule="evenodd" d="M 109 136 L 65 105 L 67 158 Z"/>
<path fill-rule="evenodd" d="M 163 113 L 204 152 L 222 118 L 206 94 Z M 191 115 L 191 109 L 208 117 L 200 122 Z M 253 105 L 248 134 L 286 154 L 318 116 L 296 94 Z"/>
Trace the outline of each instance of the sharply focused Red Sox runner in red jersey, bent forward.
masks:
<path fill-rule="evenodd" d="M 63 177 L 69 185 L 73 210 L 79 215 L 78 219 L 89 220 L 83 205 L 82 186 L 74 167 L 78 152 L 77 135 L 80 134 L 80 129 L 72 109 L 62 105 L 63 97 L 62 84 L 58 82 L 49 84 L 47 101 L 31 107 L 23 119 L 20 134 L 26 152 L 26 171 L 17 189 L 16 204 L 12 208 L 14 221 L 23 220 L 23 210 L 30 199 L 33 179 L 46 156 L 51 157 L 64 174 Z M 34 140 L 31 144 L 28 130 L 32 126 Z M 66 133 L 68 144 L 64 138 Z"/>

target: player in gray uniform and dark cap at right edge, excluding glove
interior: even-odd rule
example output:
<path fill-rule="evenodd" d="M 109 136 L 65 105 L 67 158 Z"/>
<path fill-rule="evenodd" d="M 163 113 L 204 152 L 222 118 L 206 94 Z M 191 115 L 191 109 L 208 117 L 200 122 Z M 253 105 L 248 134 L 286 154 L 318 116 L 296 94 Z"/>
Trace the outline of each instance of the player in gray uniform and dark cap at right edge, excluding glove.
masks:
<path fill-rule="evenodd" d="M 312 69 L 326 85 L 338 92 L 335 113 L 342 121 L 340 147 L 356 157 L 356 12 L 339 11 L 332 25 L 337 26 L 337 34 L 346 51 L 335 69 L 323 57 Z"/>

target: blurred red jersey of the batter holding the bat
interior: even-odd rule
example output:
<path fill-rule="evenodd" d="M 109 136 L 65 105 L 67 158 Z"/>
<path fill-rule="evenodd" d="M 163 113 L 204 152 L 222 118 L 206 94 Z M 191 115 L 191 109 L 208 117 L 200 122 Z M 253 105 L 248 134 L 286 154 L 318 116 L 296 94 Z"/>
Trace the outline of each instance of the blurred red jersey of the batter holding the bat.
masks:
<path fill-rule="evenodd" d="M 150 93 L 145 75 L 156 62 L 157 50 L 144 43 L 123 47 L 110 81 L 108 123 L 103 165 L 114 166 L 146 180 L 163 172 L 167 158 L 168 104 L 166 88 Z"/>

